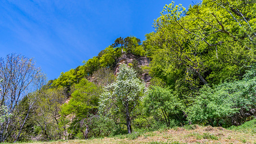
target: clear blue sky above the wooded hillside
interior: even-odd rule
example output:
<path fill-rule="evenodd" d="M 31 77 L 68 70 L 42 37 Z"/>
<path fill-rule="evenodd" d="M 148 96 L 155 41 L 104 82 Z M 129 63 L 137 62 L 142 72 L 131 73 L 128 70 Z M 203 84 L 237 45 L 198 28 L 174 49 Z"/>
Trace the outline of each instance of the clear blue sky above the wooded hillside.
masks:
<path fill-rule="evenodd" d="M 194 2 L 196 2 L 194 0 Z M 0 0 L 0 57 L 34 58 L 49 79 L 97 56 L 117 37 L 154 31 L 170 0 Z M 192 0 L 175 0 L 187 9 Z"/>

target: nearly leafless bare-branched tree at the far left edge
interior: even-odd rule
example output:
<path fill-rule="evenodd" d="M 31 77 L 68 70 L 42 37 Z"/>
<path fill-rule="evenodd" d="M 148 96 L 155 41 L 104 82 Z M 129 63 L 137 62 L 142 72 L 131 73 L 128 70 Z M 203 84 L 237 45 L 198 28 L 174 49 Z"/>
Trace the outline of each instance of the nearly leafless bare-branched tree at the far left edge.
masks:
<path fill-rule="evenodd" d="M 45 80 L 44 75 L 33 59 L 11 54 L 5 59 L 0 58 L 0 79 L 3 80 L 0 83 L 0 107 L 5 106 L 12 113 L 11 117 L 0 124 L 0 142 L 7 139 L 17 141 L 30 114 L 28 110 L 25 117 L 21 116 L 22 112 L 18 111 L 17 106 L 24 96 L 33 91 L 40 92 Z M 29 97 L 29 109 L 33 108 L 35 101 L 37 97 Z"/>

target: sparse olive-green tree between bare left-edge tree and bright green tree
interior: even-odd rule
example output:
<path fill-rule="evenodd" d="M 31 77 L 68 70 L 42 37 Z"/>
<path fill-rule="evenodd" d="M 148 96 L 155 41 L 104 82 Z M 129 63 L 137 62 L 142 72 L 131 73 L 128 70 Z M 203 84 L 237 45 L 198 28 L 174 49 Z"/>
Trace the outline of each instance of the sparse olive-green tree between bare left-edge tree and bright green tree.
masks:
<path fill-rule="evenodd" d="M 64 87 L 42 90 L 36 103 L 33 120 L 41 132 L 44 140 L 61 139 L 60 127 L 61 105 L 66 100 Z"/>

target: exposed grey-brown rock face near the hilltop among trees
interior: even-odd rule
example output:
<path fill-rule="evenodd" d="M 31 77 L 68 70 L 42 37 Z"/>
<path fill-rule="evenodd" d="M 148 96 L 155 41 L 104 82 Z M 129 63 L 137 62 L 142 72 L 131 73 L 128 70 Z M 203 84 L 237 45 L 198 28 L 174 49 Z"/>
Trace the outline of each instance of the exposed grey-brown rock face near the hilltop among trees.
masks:
<path fill-rule="evenodd" d="M 147 57 L 141 57 L 134 55 L 132 53 L 123 53 L 120 58 L 118 58 L 118 63 L 115 66 L 114 74 L 116 75 L 119 69 L 120 64 L 126 64 L 129 65 L 129 63 L 132 63 L 134 60 L 138 62 L 138 66 L 141 68 L 141 66 L 149 66 L 150 60 Z M 151 76 L 149 76 L 148 72 L 143 72 L 141 75 L 141 79 L 146 83 L 146 86 L 150 84 Z"/>

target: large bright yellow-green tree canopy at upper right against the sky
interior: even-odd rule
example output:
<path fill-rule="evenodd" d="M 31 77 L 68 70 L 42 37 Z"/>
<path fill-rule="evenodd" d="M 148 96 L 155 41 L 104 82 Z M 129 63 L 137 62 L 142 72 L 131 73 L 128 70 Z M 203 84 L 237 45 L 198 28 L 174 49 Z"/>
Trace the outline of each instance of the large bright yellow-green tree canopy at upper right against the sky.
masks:
<path fill-rule="evenodd" d="M 188 11 L 174 2 L 166 5 L 154 23 L 156 32 L 147 34 L 144 42 L 146 53 L 153 59 L 151 75 L 169 85 L 182 80 L 183 85 L 195 90 L 203 84 L 242 79 L 255 57 L 255 33 L 251 31 L 255 17 L 248 11 L 255 5 L 203 0 Z M 239 16 L 239 10 L 248 14 L 248 23 Z M 238 31 L 245 36 L 239 36 Z"/>

